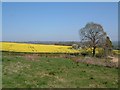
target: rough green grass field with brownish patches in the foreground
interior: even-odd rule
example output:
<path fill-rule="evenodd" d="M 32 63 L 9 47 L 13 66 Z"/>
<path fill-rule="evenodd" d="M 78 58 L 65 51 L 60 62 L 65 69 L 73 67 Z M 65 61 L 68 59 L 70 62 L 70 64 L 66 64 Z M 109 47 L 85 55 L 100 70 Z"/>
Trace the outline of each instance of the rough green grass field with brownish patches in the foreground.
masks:
<path fill-rule="evenodd" d="M 3 88 L 117 88 L 118 69 L 3 52 Z"/>

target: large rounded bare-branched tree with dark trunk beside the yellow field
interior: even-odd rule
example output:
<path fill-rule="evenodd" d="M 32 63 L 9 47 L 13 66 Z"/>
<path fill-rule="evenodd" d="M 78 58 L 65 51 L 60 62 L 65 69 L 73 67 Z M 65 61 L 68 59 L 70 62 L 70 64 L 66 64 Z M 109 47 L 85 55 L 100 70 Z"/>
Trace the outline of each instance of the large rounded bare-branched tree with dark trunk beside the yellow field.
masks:
<path fill-rule="evenodd" d="M 96 47 L 102 46 L 105 44 L 106 33 L 103 30 L 103 27 L 100 24 L 96 23 L 87 23 L 85 27 L 80 29 L 80 38 L 82 44 L 87 47 L 91 47 L 93 56 L 95 56 Z"/>

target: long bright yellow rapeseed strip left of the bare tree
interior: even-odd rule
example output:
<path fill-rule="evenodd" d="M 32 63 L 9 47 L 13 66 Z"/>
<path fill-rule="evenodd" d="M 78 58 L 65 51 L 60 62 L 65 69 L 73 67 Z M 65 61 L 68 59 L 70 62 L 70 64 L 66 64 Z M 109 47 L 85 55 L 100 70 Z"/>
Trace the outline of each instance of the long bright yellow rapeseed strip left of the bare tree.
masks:
<path fill-rule="evenodd" d="M 78 53 L 72 46 L 0 42 L 0 51 L 35 53 Z"/>

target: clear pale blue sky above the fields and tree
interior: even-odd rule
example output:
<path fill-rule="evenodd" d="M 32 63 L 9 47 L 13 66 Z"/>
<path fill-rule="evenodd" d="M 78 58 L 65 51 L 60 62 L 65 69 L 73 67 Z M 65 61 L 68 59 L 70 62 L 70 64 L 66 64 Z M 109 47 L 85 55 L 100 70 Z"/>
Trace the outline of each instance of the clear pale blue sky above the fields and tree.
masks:
<path fill-rule="evenodd" d="M 118 40 L 118 3 L 3 3 L 3 41 L 79 41 L 79 30 L 99 23 Z"/>

